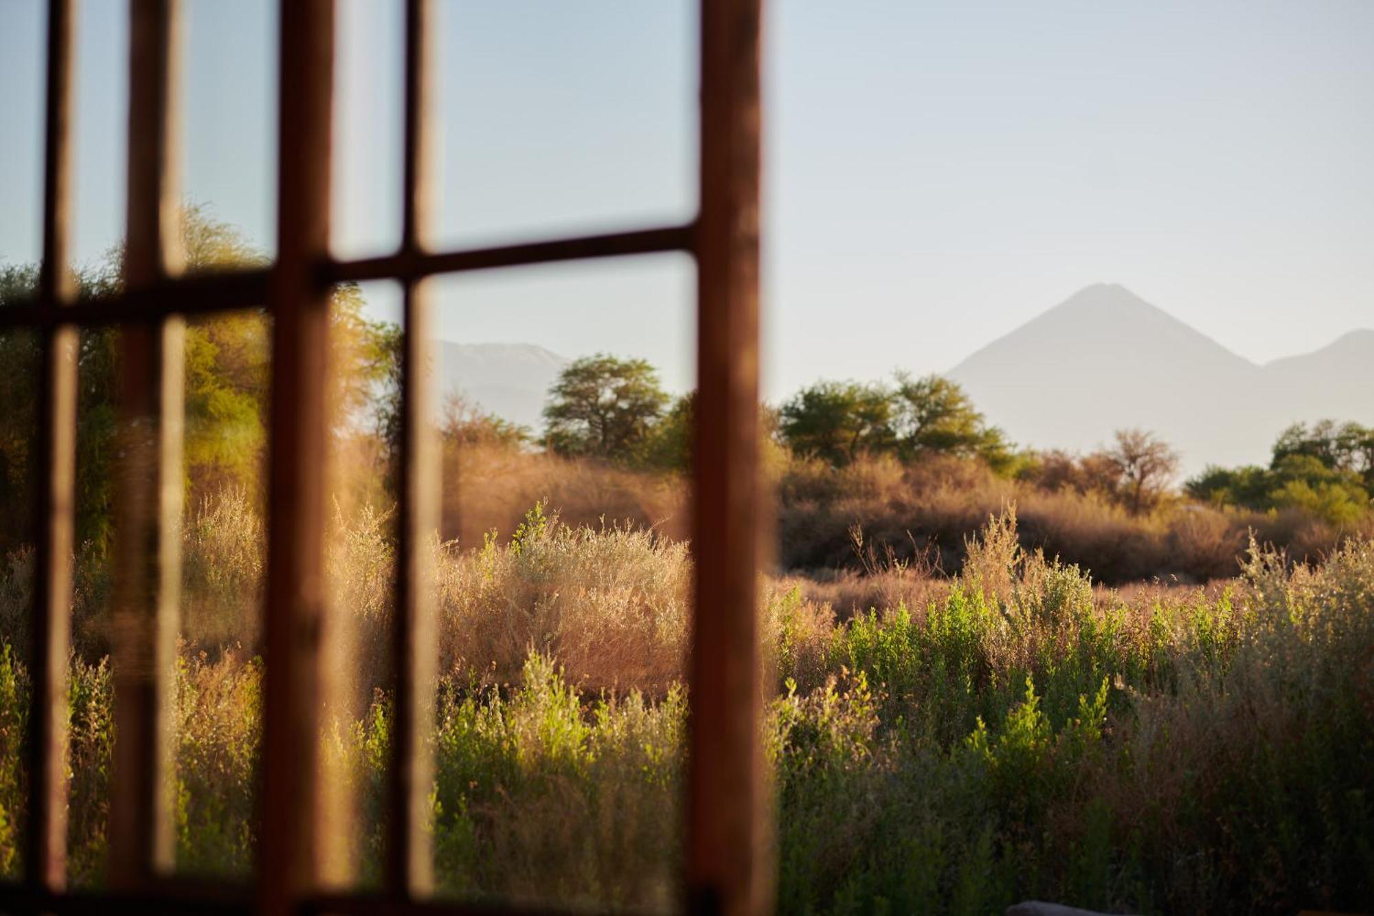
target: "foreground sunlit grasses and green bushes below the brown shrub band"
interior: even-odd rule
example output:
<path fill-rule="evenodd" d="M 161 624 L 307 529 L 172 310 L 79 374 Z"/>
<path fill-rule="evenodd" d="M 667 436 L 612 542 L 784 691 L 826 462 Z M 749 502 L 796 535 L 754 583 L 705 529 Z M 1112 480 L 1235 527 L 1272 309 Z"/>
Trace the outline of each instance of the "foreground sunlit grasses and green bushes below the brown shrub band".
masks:
<path fill-rule="evenodd" d="M 1022 549 L 1035 510 L 984 517 L 952 575 L 879 552 L 864 575 L 761 582 L 779 909 L 1374 899 L 1374 546 L 1355 538 L 1294 564 L 1252 543 L 1232 580 L 1116 591 Z M 387 532 L 386 513 L 341 517 L 330 553 L 357 700 L 331 714 L 324 747 L 356 802 L 363 884 L 379 869 L 390 725 Z M 534 509 L 485 541 L 431 549 L 438 891 L 671 906 L 690 545 Z M 239 492 L 202 501 L 185 527 L 174 817 L 187 872 L 251 864 L 261 550 Z M 81 884 L 103 880 L 114 726 L 109 585 L 85 556 L 77 579 L 69 836 Z M 0 578 L 8 873 L 25 817 L 30 587 L 30 557 L 15 553 Z"/>

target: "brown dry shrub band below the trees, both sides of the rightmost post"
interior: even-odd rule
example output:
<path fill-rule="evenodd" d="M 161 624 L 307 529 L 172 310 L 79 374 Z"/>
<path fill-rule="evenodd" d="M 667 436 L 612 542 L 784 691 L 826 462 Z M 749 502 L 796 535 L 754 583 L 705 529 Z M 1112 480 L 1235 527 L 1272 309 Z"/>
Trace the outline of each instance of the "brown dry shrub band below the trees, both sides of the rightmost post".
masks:
<path fill-rule="evenodd" d="M 1334 523 L 1301 508 L 1260 512 L 1172 494 L 1132 514 L 1105 494 L 1050 488 L 959 457 L 859 455 L 835 466 L 771 441 L 765 457 L 776 492 L 775 565 L 818 580 L 863 579 L 893 561 L 955 575 L 969 535 L 1009 505 L 1017 506 L 1022 549 L 1077 564 L 1112 586 L 1231 579 L 1252 535 L 1304 561 L 1374 536 L 1374 512 Z M 445 536 L 463 543 L 480 542 L 491 528 L 514 531 L 541 499 L 573 525 L 610 519 L 687 535 L 690 486 L 679 473 L 488 447 L 455 450 L 445 481 L 453 484 L 445 492 Z"/>

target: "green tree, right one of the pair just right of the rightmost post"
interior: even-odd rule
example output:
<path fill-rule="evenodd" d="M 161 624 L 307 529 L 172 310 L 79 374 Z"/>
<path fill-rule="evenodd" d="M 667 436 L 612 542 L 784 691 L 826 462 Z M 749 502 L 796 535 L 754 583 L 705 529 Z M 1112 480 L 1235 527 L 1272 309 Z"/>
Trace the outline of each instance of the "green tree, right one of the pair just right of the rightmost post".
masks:
<path fill-rule="evenodd" d="M 905 461 L 938 452 L 982 458 L 996 470 L 1013 461 L 1002 430 L 987 424 L 958 382 L 941 375 L 897 373 L 893 415 L 897 454 Z"/>

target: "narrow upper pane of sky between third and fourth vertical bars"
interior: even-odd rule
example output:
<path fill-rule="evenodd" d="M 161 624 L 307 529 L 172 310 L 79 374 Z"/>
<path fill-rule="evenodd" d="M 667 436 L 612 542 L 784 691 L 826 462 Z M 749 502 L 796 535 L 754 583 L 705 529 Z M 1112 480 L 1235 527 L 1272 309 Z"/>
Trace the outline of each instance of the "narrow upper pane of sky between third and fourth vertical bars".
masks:
<path fill-rule="evenodd" d="M 334 221 L 339 257 L 401 243 L 405 4 L 345 0 L 334 58 Z"/>

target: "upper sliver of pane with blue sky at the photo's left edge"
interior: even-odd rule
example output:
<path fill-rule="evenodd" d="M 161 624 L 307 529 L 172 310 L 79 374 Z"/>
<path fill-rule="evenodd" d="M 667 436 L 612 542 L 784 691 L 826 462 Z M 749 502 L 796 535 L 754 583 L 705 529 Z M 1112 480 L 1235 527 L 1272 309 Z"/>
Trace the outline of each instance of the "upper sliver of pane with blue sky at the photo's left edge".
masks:
<path fill-rule="evenodd" d="M 43 257 L 43 129 L 48 4 L 0 6 L 0 268 Z"/>

